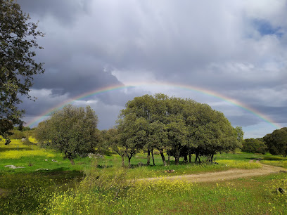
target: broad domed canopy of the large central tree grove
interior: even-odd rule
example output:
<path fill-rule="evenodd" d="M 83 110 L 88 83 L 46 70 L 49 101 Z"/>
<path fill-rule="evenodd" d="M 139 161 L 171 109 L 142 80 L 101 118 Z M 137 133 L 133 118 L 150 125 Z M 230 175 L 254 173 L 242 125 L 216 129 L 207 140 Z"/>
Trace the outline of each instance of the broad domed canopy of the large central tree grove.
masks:
<path fill-rule="evenodd" d="M 210 157 L 217 152 L 241 147 L 243 131 L 234 129 L 222 112 L 194 100 L 169 97 L 162 93 L 130 100 L 117 122 L 122 146 L 153 152 L 156 148 L 165 162 L 164 151 L 175 158 L 195 153 Z M 186 159 L 187 160 L 187 159 Z M 149 160 L 148 160 L 149 164 Z"/>

